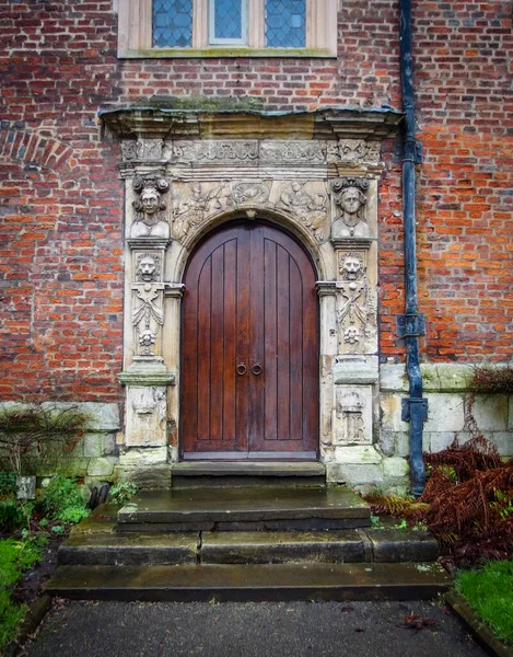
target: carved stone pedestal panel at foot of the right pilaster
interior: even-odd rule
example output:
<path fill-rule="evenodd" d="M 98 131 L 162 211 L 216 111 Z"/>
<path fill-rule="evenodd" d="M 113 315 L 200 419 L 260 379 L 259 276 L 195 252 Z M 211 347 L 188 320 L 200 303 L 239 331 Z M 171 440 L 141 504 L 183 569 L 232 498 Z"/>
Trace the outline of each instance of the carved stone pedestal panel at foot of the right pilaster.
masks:
<path fill-rule="evenodd" d="M 372 388 L 336 385 L 334 445 L 372 443 Z"/>

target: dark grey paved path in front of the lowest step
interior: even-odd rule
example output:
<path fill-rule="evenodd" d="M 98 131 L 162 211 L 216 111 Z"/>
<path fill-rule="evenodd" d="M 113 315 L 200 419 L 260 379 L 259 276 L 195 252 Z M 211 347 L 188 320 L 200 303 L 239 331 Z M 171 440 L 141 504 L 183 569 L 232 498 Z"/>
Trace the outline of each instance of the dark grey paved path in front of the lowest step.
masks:
<path fill-rule="evenodd" d="M 411 613 L 434 624 L 403 626 Z M 28 657 L 485 657 L 431 602 L 63 602 Z"/>

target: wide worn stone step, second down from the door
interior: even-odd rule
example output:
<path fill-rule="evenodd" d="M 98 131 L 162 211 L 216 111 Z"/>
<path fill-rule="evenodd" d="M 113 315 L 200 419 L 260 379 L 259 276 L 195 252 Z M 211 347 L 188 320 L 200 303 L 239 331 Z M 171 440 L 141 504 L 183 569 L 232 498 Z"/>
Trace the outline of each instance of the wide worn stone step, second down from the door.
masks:
<path fill-rule="evenodd" d="M 368 527 L 370 508 L 343 487 L 143 491 L 119 509 L 118 531 L 322 530 Z"/>

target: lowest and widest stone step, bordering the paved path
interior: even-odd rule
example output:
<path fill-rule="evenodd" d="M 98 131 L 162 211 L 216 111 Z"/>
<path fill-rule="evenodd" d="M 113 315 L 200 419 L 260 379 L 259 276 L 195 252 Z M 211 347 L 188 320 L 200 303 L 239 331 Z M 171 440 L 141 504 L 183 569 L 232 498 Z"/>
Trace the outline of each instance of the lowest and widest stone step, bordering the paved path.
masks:
<path fill-rule="evenodd" d="M 89 600 L 420 600 L 450 585 L 438 563 L 59 566 L 46 592 Z"/>

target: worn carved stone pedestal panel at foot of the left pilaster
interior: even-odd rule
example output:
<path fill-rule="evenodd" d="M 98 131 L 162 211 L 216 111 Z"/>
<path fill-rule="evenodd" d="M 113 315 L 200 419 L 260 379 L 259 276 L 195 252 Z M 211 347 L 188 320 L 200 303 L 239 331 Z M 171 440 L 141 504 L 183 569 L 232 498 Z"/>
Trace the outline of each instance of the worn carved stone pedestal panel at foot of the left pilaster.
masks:
<path fill-rule="evenodd" d="M 161 385 L 127 387 L 127 447 L 166 445 L 166 389 Z"/>

